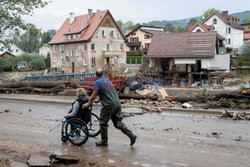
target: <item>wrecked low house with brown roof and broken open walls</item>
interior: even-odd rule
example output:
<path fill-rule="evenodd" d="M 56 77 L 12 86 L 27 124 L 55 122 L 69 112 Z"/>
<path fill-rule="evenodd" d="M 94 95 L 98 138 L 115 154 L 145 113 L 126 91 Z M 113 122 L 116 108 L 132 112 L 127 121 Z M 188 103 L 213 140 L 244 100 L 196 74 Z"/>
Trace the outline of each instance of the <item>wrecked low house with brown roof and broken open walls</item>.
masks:
<path fill-rule="evenodd" d="M 169 85 L 208 83 L 211 72 L 230 71 L 230 54 L 219 53 L 219 40 L 215 31 L 157 34 L 146 57 Z"/>

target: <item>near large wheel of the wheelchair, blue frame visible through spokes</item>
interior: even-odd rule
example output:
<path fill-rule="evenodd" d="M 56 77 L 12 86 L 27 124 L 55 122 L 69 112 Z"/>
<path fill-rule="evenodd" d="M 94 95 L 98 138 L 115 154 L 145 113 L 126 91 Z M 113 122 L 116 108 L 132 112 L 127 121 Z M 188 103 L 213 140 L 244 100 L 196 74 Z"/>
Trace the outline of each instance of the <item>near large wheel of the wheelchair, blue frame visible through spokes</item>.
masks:
<path fill-rule="evenodd" d="M 73 145 L 81 146 L 89 137 L 87 125 L 80 119 L 70 119 L 65 126 L 66 137 Z"/>

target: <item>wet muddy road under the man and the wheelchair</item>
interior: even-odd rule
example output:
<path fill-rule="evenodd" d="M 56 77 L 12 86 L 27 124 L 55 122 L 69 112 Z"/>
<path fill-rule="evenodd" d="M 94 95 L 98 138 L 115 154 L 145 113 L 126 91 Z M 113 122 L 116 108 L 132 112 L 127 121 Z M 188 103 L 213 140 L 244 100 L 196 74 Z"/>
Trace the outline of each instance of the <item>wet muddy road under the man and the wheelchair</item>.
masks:
<path fill-rule="evenodd" d="M 4 112 L 5 109 L 10 112 Z M 49 132 L 69 109 L 70 106 L 63 105 L 0 101 L 0 158 L 11 156 L 4 153 L 10 148 L 23 154 L 78 155 L 106 166 L 247 167 L 250 164 L 250 121 L 168 113 L 137 115 L 124 118 L 124 123 L 138 136 L 133 147 L 111 122 L 108 147 L 95 146 L 100 136 L 76 147 L 61 142 L 60 127 Z M 99 110 L 95 108 L 94 112 L 99 114 Z"/>

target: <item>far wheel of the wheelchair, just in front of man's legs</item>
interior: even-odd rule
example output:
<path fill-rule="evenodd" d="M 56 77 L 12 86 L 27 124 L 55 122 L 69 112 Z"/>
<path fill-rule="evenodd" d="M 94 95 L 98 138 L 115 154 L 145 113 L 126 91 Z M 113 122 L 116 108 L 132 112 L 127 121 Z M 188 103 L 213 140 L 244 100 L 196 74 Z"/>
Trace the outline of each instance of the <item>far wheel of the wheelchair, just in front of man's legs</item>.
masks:
<path fill-rule="evenodd" d="M 88 130 L 89 130 L 90 137 L 96 137 L 101 133 L 99 117 L 94 113 L 91 113 L 91 120 L 88 123 Z"/>

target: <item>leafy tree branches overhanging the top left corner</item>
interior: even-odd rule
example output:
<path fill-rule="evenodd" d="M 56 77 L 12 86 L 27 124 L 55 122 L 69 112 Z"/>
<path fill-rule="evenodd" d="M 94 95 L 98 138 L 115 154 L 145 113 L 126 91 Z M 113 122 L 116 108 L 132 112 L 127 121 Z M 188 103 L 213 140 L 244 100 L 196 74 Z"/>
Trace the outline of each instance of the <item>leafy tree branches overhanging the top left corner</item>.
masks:
<path fill-rule="evenodd" d="M 32 15 L 34 9 L 46 6 L 43 0 L 0 0 L 0 43 L 10 43 L 9 35 L 20 30 L 31 28 L 23 16 Z"/>

